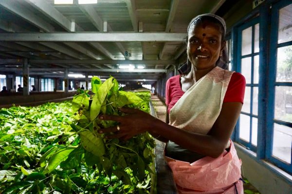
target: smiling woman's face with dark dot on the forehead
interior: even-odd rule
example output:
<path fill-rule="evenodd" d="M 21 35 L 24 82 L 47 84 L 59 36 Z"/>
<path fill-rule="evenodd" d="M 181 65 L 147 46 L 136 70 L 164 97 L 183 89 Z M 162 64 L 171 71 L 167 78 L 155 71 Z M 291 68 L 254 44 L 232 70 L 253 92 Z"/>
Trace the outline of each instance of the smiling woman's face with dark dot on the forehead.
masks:
<path fill-rule="evenodd" d="M 221 42 L 219 26 L 203 22 L 192 26 L 188 32 L 187 56 L 196 69 L 209 69 L 216 66 L 224 42 Z"/>

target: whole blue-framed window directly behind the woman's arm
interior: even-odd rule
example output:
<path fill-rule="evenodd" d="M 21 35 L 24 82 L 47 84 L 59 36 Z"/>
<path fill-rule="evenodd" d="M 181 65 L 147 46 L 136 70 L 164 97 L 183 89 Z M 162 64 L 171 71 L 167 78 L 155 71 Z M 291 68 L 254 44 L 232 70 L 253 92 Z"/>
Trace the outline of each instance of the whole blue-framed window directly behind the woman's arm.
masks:
<path fill-rule="evenodd" d="M 245 77 L 244 102 L 239 117 L 236 140 L 256 152 L 259 78 L 259 19 L 238 28 L 237 71 Z"/>

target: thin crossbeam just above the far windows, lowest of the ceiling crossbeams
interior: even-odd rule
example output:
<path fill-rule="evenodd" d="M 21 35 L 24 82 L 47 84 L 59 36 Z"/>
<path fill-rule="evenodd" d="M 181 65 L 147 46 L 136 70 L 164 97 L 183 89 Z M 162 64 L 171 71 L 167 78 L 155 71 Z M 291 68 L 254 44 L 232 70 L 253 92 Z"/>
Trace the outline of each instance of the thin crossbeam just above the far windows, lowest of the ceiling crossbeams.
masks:
<path fill-rule="evenodd" d="M 65 71 L 65 68 L 30 68 L 30 72 L 36 71 Z M 0 71 L 22 71 L 22 68 L 1 68 Z M 69 68 L 68 71 L 71 72 L 117 72 L 117 69 L 81 69 L 81 68 Z M 167 73 L 166 69 L 119 69 L 119 72 L 150 72 L 150 73 Z"/>

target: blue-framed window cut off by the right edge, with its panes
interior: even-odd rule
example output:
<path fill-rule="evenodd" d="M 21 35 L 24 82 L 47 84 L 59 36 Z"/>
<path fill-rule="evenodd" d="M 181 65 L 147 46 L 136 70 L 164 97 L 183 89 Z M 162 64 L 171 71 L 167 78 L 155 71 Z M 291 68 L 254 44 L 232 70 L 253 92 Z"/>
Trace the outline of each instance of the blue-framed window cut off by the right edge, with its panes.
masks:
<path fill-rule="evenodd" d="M 266 157 L 292 173 L 292 3 L 272 6 Z M 287 20 L 288 19 L 288 20 Z"/>

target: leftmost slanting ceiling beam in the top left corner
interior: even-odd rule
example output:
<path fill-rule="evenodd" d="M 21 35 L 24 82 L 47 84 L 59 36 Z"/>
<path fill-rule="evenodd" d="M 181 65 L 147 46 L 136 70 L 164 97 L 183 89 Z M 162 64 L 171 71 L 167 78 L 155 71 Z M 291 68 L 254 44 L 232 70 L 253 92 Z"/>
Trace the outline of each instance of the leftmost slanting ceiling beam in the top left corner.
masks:
<path fill-rule="evenodd" d="M 28 21 L 29 23 L 36 25 L 43 31 L 52 32 L 55 31 L 54 27 L 41 19 L 41 17 L 33 14 L 29 9 L 26 9 L 18 0 L 1 0 L 0 6 L 4 7 L 6 10 L 17 14 L 22 19 Z"/>

